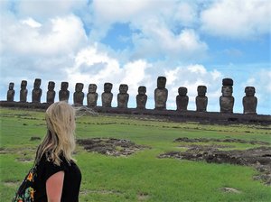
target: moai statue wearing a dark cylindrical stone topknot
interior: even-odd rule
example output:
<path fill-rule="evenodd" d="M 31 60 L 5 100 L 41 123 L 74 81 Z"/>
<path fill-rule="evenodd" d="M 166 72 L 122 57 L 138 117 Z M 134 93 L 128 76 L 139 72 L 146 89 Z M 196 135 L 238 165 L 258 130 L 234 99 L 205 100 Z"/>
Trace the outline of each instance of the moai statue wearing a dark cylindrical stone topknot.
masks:
<path fill-rule="evenodd" d="M 234 97 L 232 96 L 233 80 L 224 78 L 222 80 L 222 96 L 220 96 L 220 112 L 233 113 Z"/>

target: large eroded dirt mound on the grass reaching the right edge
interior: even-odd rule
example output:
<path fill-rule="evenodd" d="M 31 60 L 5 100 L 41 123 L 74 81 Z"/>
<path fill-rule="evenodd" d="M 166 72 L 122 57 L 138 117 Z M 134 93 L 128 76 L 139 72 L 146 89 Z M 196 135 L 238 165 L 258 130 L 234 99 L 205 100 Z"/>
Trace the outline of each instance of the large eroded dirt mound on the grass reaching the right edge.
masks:
<path fill-rule="evenodd" d="M 180 139 L 178 140 L 180 142 Z M 184 140 L 188 140 L 188 138 Z M 271 147 L 262 146 L 244 151 L 220 151 L 220 148 L 215 145 L 190 145 L 186 152 L 166 152 L 159 155 L 159 158 L 252 166 L 260 173 L 255 176 L 255 179 L 261 179 L 267 185 L 271 185 Z"/>

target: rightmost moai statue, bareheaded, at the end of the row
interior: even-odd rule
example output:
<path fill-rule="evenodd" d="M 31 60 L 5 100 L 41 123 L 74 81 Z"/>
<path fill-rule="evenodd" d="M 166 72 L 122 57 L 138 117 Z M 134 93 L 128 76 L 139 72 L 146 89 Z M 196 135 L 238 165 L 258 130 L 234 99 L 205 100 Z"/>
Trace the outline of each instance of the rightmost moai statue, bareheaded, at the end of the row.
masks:
<path fill-rule="evenodd" d="M 246 96 L 243 97 L 244 114 L 257 115 L 257 97 L 255 96 L 255 87 L 245 88 Z"/>

